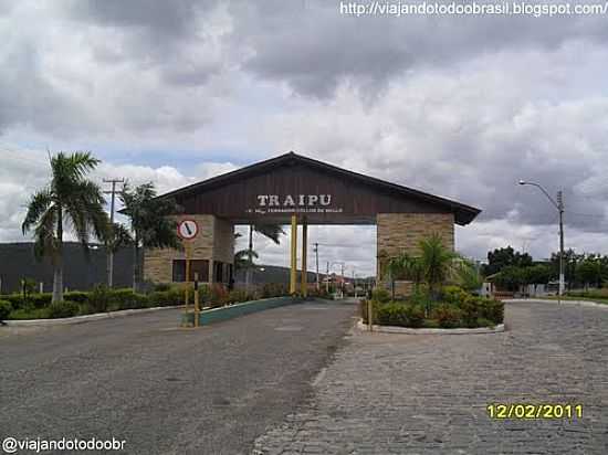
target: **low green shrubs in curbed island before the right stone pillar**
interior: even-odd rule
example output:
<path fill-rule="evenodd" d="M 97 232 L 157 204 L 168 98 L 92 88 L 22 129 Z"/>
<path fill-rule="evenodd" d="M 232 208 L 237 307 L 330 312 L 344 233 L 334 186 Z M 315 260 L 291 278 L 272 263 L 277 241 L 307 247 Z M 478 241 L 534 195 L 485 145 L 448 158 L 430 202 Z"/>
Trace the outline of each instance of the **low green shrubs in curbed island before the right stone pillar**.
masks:
<path fill-rule="evenodd" d="M 367 300 L 360 303 L 363 324 L 368 325 Z M 371 298 L 373 325 L 411 329 L 488 328 L 503 322 L 504 304 L 469 294 L 458 286 L 445 286 L 437 298 L 424 289 L 410 297 L 392 300 L 379 289 Z"/>

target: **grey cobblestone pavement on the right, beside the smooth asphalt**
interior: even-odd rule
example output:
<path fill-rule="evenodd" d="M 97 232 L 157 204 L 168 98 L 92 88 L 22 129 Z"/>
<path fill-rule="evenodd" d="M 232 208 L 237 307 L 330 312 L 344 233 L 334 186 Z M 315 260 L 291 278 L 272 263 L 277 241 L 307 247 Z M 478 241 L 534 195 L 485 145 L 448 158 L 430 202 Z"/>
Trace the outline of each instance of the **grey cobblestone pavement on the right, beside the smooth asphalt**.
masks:
<path fill-rule="evenodd" d="M 512 303 L 494 335 L 354 332 L 256 454 L 608 454 L 608 308 Z M 492 421 L 488 403 L 581 403 Z"/>

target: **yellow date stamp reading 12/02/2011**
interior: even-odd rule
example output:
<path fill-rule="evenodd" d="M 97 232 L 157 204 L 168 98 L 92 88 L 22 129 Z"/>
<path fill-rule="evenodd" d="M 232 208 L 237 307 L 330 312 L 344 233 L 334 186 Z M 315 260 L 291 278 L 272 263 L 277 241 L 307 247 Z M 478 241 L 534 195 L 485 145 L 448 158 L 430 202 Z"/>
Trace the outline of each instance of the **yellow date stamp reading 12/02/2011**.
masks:
<path fill-rule="evenodd" d="M 583 419 L 583 404 L 556 403 L 491 403 L 488 416 L 496 420 Z"/>

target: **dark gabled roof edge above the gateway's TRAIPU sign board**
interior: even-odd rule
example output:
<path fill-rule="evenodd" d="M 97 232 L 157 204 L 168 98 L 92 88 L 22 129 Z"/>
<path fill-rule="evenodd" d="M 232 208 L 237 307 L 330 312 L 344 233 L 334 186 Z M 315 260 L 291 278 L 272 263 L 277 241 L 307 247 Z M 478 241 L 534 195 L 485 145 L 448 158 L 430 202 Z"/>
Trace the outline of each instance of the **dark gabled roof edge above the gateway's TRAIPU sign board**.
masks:
<path fill-rule="evenodd" d="M 293 151 L 275 158 L 266 159 L 264 161 L 259 161 L 250 166 L 245 166 L 241 169 L 237 169 L 234 171 L 227 172 L 221 176 L 203 180 L 201 182 L 189 184 L 187 187 L 165 193 L 159 198 L 188 197 L 192 193 L 200 193 L 207 190 L 217 189 L 219 187 L 239 181 L 240 179 L 256 176 L 263 173 L 264 171 L 270 171 L 279 166 L 298 163 L 313 169 L 318 169 L 336 177 L 348 178 L 353 181 L 366 184 L 371 188 L 376 188 L 378 190 L 390 191 L 397 197 L 401 195 L 403 198 L 417 199 L 438 207 L 443 207 L 450 212 L 454 213 L 455 222 L 461 225 L 469 224 L 481 212 L 480 209 L 471 205 L 467 205 L 434 194 L 426 193 L 423 191 L 415 190 L 412 188 L 403 187 L 397 183 L 391 183 L 374 177 L 365 176 L 363 173 L 349 171 L 347 169 L 338 168 L 337 166 L 333 166 L 327 162 L 318 161 L 308 157 L 304 157 L 302 155 L 296 155 Z"/>

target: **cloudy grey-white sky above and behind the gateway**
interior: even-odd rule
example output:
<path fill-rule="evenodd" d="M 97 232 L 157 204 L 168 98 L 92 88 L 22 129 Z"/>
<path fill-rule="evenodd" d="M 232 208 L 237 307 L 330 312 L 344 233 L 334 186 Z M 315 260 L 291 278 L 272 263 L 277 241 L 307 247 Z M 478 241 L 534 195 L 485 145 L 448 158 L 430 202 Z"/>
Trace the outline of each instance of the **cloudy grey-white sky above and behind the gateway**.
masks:
<path fill-rule="evenodd" d="M 574 3 L 573 3 L 574 4 Z M 0 0 L 0 241 L 23 241 L 46 149 L 160 191 L 294 150 L 483 209 L 482 258 L 608 253 L 607 15 L 360 15 L 334 1 Z M 318 228 L 374 272 L 374 228 Z M 283 242 L 286 244 L 286 242 Z M 260 239 L 262 262 L 286 248 Z"/>

